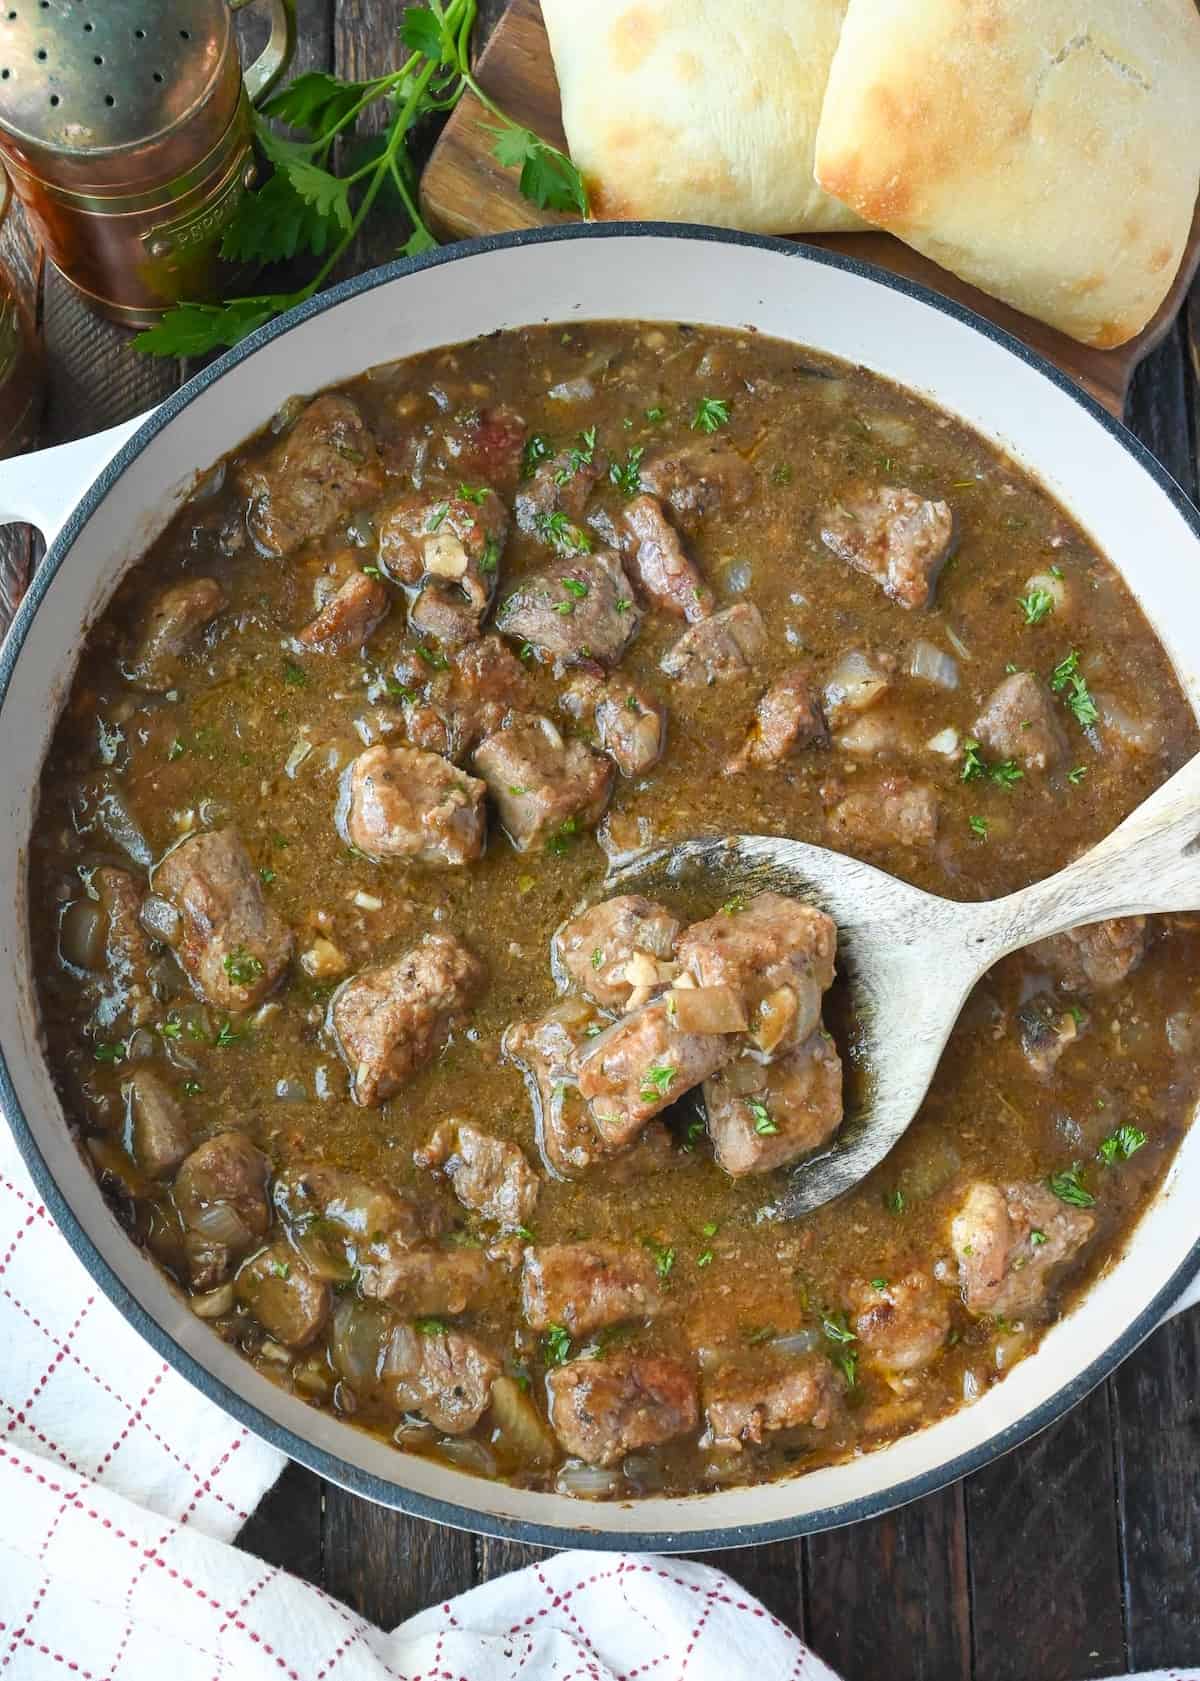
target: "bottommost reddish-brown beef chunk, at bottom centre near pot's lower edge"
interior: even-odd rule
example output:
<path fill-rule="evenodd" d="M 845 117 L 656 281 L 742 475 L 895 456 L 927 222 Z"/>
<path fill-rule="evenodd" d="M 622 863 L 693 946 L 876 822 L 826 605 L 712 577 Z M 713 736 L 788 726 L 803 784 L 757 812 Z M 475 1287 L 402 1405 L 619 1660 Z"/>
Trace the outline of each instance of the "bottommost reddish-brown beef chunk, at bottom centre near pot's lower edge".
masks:
<path fill-rule="evenodd" d="M 689 1436 L 699 1419 L 696 1378 L 659 1355 L 571 1360 L 546 1377 L 546 1387 L 558 1441 L 595 1466 L 615 1466 L 639 1447 Z"/>

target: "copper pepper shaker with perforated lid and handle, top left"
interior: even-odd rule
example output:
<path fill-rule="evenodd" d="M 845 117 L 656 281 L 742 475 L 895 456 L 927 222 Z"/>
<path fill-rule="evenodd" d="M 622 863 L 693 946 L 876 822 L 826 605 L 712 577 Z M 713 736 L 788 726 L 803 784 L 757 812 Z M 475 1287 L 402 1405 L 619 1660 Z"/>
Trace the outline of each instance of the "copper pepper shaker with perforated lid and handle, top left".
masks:
<path fill-rule="evenodd" d="M 153 326 L 217 296 L 257 163 L 250 101 L 286 69 L 292 0 L 242 76 L 254 0 L 3 0 L 0 156 L 47 256 L 103 314 Z"/>

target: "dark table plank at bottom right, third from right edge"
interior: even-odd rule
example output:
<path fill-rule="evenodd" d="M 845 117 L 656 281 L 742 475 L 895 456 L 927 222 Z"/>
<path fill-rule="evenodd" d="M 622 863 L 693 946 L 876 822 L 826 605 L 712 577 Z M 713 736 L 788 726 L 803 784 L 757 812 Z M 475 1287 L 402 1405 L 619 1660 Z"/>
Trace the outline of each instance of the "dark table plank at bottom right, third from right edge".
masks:
<path fill-rule="evenodd" d="M 844 1681 L 970 1676 L 963 1486 L 808 1536 L 805 1631 Z"/>

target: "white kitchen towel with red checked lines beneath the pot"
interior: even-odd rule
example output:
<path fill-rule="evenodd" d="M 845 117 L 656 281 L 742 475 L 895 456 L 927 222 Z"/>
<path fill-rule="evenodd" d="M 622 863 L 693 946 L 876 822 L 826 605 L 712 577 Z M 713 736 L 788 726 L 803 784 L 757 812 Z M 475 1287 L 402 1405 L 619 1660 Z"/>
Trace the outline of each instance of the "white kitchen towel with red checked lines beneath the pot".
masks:
<path fill-rule="evenodd" d="M 0 1405 L 5 1681 L 835 1681 L 726 1575 L 679 1558 L 548 1553 L 385 1634 L 237 1552 L 282 1456 L 129 1330 L 3 1123 Z"/>

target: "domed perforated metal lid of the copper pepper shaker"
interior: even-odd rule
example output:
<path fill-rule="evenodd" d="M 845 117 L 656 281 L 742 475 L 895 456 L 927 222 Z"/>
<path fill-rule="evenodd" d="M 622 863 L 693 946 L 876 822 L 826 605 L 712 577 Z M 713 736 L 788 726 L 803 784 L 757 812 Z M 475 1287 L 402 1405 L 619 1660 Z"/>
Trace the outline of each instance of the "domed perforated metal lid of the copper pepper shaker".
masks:
<path fill-rule="evenodd" d="M 143 146 L 235 66 L 225 0 L 0 0 L 0 128 L 27 158 Z"/>

